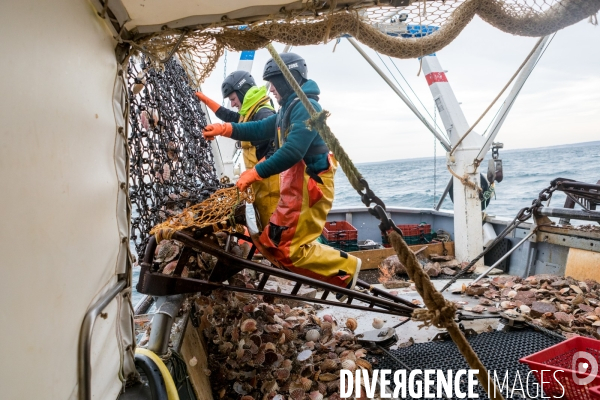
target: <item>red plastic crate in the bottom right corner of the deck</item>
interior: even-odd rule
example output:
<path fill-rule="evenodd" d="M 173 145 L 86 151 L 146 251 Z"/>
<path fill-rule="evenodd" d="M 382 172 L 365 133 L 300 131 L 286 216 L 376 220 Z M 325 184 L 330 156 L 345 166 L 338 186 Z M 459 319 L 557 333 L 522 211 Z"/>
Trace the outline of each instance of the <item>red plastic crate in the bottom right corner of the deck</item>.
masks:
<path fill-rule="evenodd" d="M 575 336 L 523 357 L 519 362 L 527 364 L 529 369 L 534 371 L 546 396 L 558 398 L 564 391 L 563 399 L 591 400 L 598 398 L 590 391 L 590 388 L 600 385 L 600 376 L 598 375 L 600 340 Z M 585 368 L 586 364 L 587 368 Z M 542 370 L 544 371 L 543 384 L 540 374 Z M 589 382 L 586 382 L 588 380 Z"/>

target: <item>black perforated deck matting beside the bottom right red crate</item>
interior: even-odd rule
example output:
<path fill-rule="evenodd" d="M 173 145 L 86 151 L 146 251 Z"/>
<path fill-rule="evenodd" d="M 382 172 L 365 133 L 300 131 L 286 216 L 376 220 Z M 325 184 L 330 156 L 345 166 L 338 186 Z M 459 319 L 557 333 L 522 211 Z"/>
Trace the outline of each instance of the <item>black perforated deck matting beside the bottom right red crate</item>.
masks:
<path fill-rule="evenodd" d="M 527 373 L 529 372 L 529 367 L 519 363 L 520 358 L 537 353 L 540 350 L 559 343 L 557 339 L 533 330 L 486 332 L 472 336 L 468 338 L 468 340 L 488 371 L 497 371 L 500 381 L 502 381 L 505 371 L 509 371 L 509 386 L 511 387 L 517 371 L 519 372 L 523 386 L 526 385 L 525 381 Z M 439 369 L 456 372 L 459 369 L 469 368 L 465 359 L 458 351 L 458 348 L 451 340 L 446 342 L 417 343 L 408 348 L 392 350 L 390 352 L 413 370 Z M 374 368 L 391 369 L 392 371 L 404 369 L 404 367 L 400 366 L 395 360 L 385 354 L 376 356 L 376 360 L 376 364 L 373 366 Z M 410 372 L 407 371 L 407 375 L 409 373 Z M 420 376 L 419 379 L 422 379 L 422 376 Z M 528 386 L 529 393 L 531 393 L 532 396 L 536 393 L 536 384 L 537 381 L 534 380 L 533 374 L 531 374 Z M 434 393 L 435 388 L 436 385 L 434 384 L 431 390 Z M 394 389 L 393 382 L 392 389 Z M 461 383 L 461 390 L 466 393 L 466 379 L 463 379 L 463 382 Z M 476 393 L 479 395 L 480 399 L 489 399 L 485 390 L 480 385 L 476 387 Z M 504 394 L 506 394 L 506 391 L 504 391 Z M 520 391 L 515 391 L 512 398 L 523 398 L 520 397 L 520 394 Z M 525 394 L 527 395 L 527 392 L 525 392 Z M 538 394 L 537 397 L 541 398 L 541 394 Z M 407 398 L 412 399 L 412 397 Z"/>

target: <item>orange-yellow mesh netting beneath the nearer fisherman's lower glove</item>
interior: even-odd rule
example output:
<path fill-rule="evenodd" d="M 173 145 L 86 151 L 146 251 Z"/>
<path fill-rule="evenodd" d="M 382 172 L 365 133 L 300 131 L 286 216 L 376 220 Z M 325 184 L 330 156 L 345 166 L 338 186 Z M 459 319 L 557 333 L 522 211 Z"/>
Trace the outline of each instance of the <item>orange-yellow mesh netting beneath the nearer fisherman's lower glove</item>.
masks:
<path fill-rule="evenodd" d="M 181 213 L 158 224 L 151 231 L 154 235 L 163 229 L 180 231 L 186 228 L 205 228 L 212 226 L 214 232 L 237 231 L 244 232 L 244 227 L 235 221 L 235 212 L 239 205 L 252 203 L 254 196 L 251 191 L 240 192 L 236 187 L 216 191 L 202 203 L 186 208 Z"/>

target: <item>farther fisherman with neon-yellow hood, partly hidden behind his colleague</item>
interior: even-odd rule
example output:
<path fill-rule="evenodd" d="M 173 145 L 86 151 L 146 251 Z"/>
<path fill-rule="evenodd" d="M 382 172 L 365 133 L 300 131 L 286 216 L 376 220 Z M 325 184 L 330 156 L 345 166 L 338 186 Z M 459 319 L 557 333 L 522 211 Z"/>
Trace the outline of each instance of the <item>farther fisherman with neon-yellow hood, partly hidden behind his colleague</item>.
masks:
<path fill-rule="evenodd" d="M 250 73 L 235 71 L 229 74 L 221 85 L 223 98 L 228 98 L 231 107 L 236 107 L 235 112 L 220 106 L 217 102 L 197 92 L 196 96 L 210 108 L 217 118 L 225 122 L 260 121 L 275 114 L 271 99 L 267 95 L 265 86 L 258 87 Z M 259 160 L 268 158 L 274 151 L 274 140 L 243 141 L 242 153 L 247 170 L 254 168 Z M 258 215 L 257 224 L 262 231 L 269 223 L 269 218 L 275 211 L 279 201 L 279 174 L 252 184 L 254 191 L 254 209 Z"/>

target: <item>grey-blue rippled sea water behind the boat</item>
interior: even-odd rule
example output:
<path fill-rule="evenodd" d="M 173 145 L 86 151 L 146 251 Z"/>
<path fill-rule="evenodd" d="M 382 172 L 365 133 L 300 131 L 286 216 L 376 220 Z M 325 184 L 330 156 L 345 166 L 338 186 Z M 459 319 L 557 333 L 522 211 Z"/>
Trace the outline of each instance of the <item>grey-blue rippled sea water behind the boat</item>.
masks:
<path fill-rule="evenodd" d="M 555 178 L 596 183 L 600 180 L 600 141 L 536 149 L 500 150 L 504 179 L 496 184 L 488 215 L 514 218 L 529 207 L 539 193 Z M 486 175 L 487 160 L 480 170 Z M 434 169 L 435 167 L 435 169 Z M 439 202 L 450 172 L 445 157 L 393 160 L 357 164 L 373 192 L 388 207 L 433 208 Z M 435 171 L 435 173 L 434 173 Z M 557 192 L 551 204 L 562 207 L 565 195 Z M 341 168 L 335 175 L 334 208 L 364 207 Z M 452 210 L 449 197 L 441 209 Z M 133 249 L 133 246 L 132 246 Z M 134 268 L 134 286 L 139 276 Z M 141 298 L 134 291 L 133 304 Z"/>

